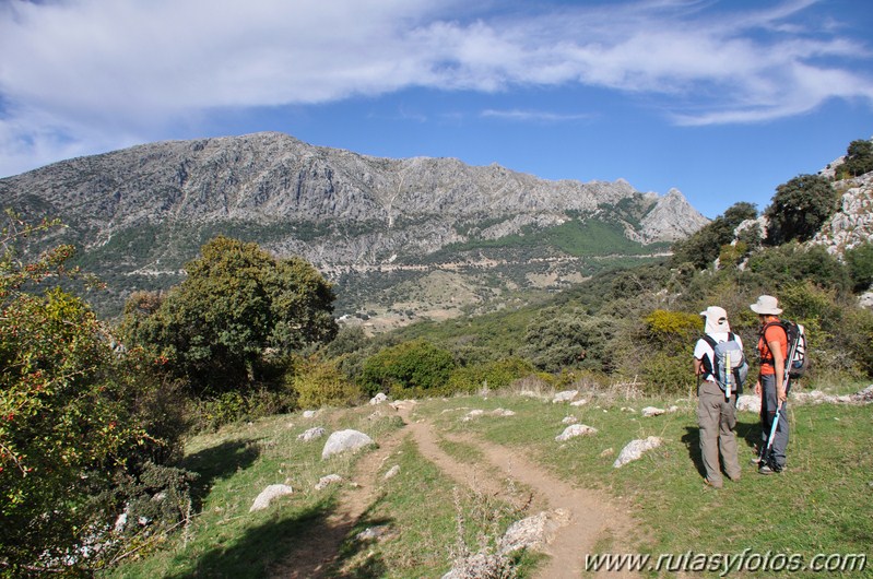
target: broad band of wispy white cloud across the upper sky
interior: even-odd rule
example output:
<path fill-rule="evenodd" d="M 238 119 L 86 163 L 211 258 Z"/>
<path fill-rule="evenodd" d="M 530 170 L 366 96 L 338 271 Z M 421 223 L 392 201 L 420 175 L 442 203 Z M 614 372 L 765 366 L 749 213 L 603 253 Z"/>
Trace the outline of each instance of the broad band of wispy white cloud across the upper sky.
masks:
<path fill-rule="evenodd" d="M 683 0 L 543 3 L 488 14 L 459 0 L 8 0 L 0 175 L 152 140 L 224 107 L 404 87 L 591 85 L 649 94 L 685 125 L 768 120 L 830 98 L 873 103 L 873 81 L 852 68 L 860 59 L 869 71 L 868 48 L 830 36 L 833 19 L 827 29 L 805 26 L 815 3 L 739 13 L 731 2 L 720 12 Z"/>

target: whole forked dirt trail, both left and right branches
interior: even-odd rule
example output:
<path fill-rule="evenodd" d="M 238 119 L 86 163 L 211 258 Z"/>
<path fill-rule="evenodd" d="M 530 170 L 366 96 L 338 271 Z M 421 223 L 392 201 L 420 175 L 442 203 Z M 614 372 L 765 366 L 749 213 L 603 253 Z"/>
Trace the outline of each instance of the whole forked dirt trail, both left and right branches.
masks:
<path fill-rule="evenodd" d="M 323 577 L 325 571 L 337 562 L 340 546 L 349 537 L 357 520 L 378 498 L 381 486 L 378 473 L 382 464 L 408 436 L 413 437 L 425 459 L 459 484 L 518 505 L 518 494 L 510 495 L 507 492 L 505 481 L 508 477 L 529 487 L 533 494 L 533 504 L 551 511 L 561 509 L 568 515 L 565 517 L 566 524 L 555 531 L 546 547 L 551 559 L 536 574 L 538 579 L 583 577 L 585 555 L 595 553 L 600 540 L 611 540 L 609 548 L 613 553 L 628 552 L 624 543 L 635 529 L 634 521 L 603 493 L 575 488 L 523 456 L 477 438 L 460 440 L 476 447 L 485 457 L 486 463 L 457 461 L 439 447 L 433 426 L 412 414 L 412 406 L 411 403 L 397 406 L 406 426 L 388 439 L 380 440 L 376 451 L 361 459 L 353 477 L 356 486 L 341 494 L 335 510 L 323 524 L 312 529 L 305 544 L 298 545 L 283 564 L 271 569 L 270 577 Z M 503 476 L 495 476 L 495 470 L 502 472 Z M 601 576 L 611 579 L 637 577 L 624 572 L 597 575 Z"/>

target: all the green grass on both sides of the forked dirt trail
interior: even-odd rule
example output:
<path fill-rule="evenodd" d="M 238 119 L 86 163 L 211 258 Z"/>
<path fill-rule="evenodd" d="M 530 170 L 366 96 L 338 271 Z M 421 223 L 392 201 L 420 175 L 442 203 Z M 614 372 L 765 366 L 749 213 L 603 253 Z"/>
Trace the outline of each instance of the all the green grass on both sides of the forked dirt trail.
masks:
<path fill-rule="evenodd" d="M 647 405 L 671 404 L 680 411 L 648 418 L 639 414 Z M 422 401 L 415 412 L 435 425 L 440 448 L 458 461 L 481 461 L 469 437 L 482 437 L 526 453 L 574 485 L 606 492 L 638 523 L 629 547 L 639 553 L 735 555 L 747 550 L 800 554 L 806 562 L 819 553 L 870 554 L 873 415 L 869 405 L 793 404 L 788 469 L 775 476 L 758 475 L 747 464 L 759 428 L 756 415 L 740 413 L 743 478 L 725 480 L 724 488 L 715 491 L 704 485 L 698 465 L 695 404 L 694 400 L 624 400 L 603 394 L 573 407 L 507 393 Z M 497 407 L 516 415 L 460 420 L 468 410 L 487 413 Z M 341 485 L 315 492 L 318 477 L 330 472 L 347 477 L 362 457 L 325 464 L 320 460 L 323 440 L 306 445 L 296 436 L 320 424 L 329 430 L 357 428 L 378 440 L 399 427 L 396 416 L 374 418 L 373 412 L 371 407 L 326 411 L 312 421 L 281 416 L 193 439 L 186 458 L 187 466 L 201 473 L 193 523 L 162 548 L 106 576 L 264 577 L 271 564 L 314 528 L 326 524 L 337 508 Z M 568 415 L 598 428 L 598 434 L 555 441 Z M 663 438 L 663 446 L 636 462 L 613 468 L 624 445 L 647 436 Z M 384 473 L 396 464 L 400 474 L 382 482 Z M 248 512 L 263 486 L 286 480 L 299 492 L 280 499 L 275 508 Z M 351 528 L 329 577 L 438 577 L 449 569 L 462 544 L 475 552 L 528 515 L 456 484 L 424 460 L 409 437 L 381 463 L 377 480 L 382 487 Z M 459 516 L 464 522 L 460 534 Z M 379 525 L 390 529 L 387 539 L 354 540 L 358 532 Z M 605 553 L 612 544 L 604 537 L 595 548 Z M 519 562 L 522 577 L 533 574 L 538 557 L 542 558 L 527 554 Z M 872 571 L 872 565 L 865 572 Z"/>

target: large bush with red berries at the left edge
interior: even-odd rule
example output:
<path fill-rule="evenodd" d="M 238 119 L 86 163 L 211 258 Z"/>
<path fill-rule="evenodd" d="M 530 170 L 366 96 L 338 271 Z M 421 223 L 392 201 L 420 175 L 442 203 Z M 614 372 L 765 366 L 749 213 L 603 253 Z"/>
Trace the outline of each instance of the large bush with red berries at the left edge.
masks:
<path fill-rule="evenodd" d="M 39 231 L 12 217 L 0 235 L 0 572 L 85 575 L 125 547 L 107 541 L 118 481 L 178 457 L 185 422 L 153 359 L 114 348 L 78 297 L 36 293 L 72 255 L 20 262 L 13 246 Z"/>

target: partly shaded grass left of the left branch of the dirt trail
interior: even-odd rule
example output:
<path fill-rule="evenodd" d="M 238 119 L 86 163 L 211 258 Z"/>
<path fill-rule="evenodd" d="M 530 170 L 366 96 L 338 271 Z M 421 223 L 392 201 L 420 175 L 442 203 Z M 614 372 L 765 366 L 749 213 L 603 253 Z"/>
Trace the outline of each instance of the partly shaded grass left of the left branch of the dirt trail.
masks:
<path fill-rule="evenodd" d="M 325 439 L 302 442 L 297 435 L 314 426 L 328 432 L 354 427 L 378 440 L 399 420 L 368 420 L 369 409 L 332 411 L 306 420 L 278 416 L 194 438 L 184 465 L 200 473 L 191 524 L 162 548 L 108 572 L 107 577 L 266 577 L 312 529 L 326 524 L 341 485 L 314 486 L 337 473 L 349 480 L 352 457 L 321 460 Z M 288 484 L 295 493 L 270 508 L 249 512 L 270 484 Z"/>

